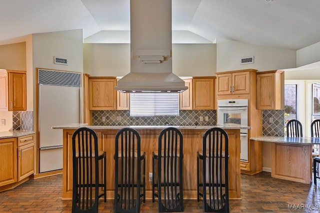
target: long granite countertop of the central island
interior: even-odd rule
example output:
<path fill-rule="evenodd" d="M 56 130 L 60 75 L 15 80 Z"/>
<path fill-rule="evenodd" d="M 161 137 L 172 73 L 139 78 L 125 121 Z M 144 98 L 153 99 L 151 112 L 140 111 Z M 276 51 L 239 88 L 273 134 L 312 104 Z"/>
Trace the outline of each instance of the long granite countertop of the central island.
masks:
<path fill-rule="evenodd" d="M 219 127 L 221 129 L 251 129 L 248 126 L 241 126 L 238 124 L 228 124 L 228 125 L 219 125 L 216 126 L 88 126 L 87 124 L 64 124 L 53 126 L 52 129 L 77 129 L 80 127 L 87 127 L 90 129 L 122 129 L 125 127 L 133 129 L 164 129 L 167 127 L 175 127 L 177 129 L 210 129 L 213 127 Z"/>

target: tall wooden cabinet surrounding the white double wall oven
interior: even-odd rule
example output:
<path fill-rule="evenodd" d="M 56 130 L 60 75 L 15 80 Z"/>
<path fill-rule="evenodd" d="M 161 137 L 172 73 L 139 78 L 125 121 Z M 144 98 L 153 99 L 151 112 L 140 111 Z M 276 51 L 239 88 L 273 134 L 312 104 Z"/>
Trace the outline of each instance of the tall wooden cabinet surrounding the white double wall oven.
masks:
<path fill-rule="evenodd" d="M 248 99 L 248 139 L 262 134 L 262 111 L 256 108 L 256 69 L 216 73 L 216 96 L 221 99 Z M 248 162 L 240 161 L 241 173 L 262 171 L 262 143 L 248 140 Z"/>

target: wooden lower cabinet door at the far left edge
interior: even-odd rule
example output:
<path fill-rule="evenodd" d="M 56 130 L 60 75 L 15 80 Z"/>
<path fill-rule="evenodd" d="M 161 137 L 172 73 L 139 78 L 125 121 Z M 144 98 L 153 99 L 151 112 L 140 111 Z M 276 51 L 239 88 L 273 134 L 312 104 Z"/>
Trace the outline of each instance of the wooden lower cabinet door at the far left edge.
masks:
<path fill-rule="evenodd" d="M 16 138 L 0 139 L 0 186 L 15 183 Z"/>

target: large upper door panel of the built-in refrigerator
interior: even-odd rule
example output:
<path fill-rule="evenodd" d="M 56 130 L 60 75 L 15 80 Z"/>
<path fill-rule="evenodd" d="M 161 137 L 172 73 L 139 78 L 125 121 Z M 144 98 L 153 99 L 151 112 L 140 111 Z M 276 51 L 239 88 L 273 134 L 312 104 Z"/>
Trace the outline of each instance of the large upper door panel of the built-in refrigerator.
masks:
<path fill-rule="evenodd" d="M 62 131 L 53 130 L 51 127 L 79 123 L 79 117 L 80 87 L 40 85 L 38 117 L 40 148 L 62 145 Z"/>

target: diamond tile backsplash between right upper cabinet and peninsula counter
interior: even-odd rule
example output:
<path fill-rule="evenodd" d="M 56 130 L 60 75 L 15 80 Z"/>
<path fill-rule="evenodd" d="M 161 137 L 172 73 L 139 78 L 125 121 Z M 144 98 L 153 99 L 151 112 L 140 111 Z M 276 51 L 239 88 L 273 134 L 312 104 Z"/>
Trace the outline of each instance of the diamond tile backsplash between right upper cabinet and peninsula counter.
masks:
<path fill-rule="evenodd" d="M 269 122 L 273 119 L 273 122 Z M 262 135 L 284 136 L 284 110 L 262 111 Z"/>

